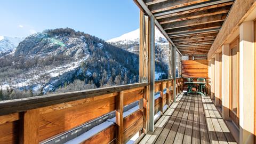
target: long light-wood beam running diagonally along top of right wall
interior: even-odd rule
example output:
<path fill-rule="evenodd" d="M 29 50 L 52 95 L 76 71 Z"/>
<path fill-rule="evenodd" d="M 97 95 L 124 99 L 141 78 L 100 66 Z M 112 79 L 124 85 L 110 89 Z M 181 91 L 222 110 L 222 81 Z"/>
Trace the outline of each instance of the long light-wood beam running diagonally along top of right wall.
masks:
<path fill-rule="evenodd" d="M 225 23 L 223 23 L 219 35 L 216 37 L 216 41 L 214 41 L 211 50 L 209 51 L 207 59 L 210 60 L 214 53 L 221 49 L 221 46 L 227 41 L 227 39 L 234 35 L 235 30 L 255 7 L 255 0 L 234 2 Z"/>

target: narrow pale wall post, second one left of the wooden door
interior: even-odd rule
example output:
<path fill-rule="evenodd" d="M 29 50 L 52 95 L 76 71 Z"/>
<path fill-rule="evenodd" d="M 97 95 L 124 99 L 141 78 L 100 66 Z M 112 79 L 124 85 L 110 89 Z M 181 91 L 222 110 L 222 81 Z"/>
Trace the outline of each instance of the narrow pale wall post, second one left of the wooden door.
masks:
<path fill-rule="evenodd" d="M 221 68 L 220 68 L 220 53 L 215 53 L 215 76 L 214 76 L 214 95 L 215 106 L 220 107 L 220 95 L 221 95 Z"/>

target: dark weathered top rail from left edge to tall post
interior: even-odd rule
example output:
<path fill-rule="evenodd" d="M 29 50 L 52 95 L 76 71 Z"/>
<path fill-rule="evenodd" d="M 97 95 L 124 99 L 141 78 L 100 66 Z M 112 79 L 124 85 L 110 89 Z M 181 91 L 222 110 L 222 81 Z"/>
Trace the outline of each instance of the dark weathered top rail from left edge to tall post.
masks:
<path fill-rule="evenodd" d="M 56 105 L 63 102 L 96 97 L 103 94 L 125 91 L 125 90 L 134 89 L 137 87 L 147 86 L 147 85 L 148 83 L 136 83 L 136 84 L 111 86 L 111 87 L 104 87 L 104 88 L 84 90 L 84 91 L 50 94 L 50 95 L 42 95 L 42 96 L 23 98 L 23 99 L 0 101 L 0 109 L 1 109 L 0 115 L 7 115 L 7 114 L 17 113 L 21 111 L 30 110 L 30 109 Z"/>

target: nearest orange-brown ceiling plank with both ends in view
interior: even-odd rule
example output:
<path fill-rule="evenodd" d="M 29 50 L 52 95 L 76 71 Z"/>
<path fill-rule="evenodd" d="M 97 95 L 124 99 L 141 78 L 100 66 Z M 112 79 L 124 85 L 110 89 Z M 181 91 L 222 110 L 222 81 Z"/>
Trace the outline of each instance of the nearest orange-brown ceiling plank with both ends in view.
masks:
<path fill-rule="evenodd" d="M 217 7 L 215 9 L 208 9 L 208 10 L 203 10 L 203 11 L 196 11 L 193 13 L 187 13 L 187 14 L 183 14 L 183 15 L 177 15 L 174 17 L 167 17 L 164 19 L 159 19 L 158 22 L 162 25 L 164 23 L 190 20 L 190 19 L 196 19 L 196 18 L 202 18 L 202 17 L 209 17 L 209 16 L 217 15 L 217 14 L 224 14 L 224 13 L 228 13 L 230 7 L 231 6 L 229 5 L 229 6 Z"/>

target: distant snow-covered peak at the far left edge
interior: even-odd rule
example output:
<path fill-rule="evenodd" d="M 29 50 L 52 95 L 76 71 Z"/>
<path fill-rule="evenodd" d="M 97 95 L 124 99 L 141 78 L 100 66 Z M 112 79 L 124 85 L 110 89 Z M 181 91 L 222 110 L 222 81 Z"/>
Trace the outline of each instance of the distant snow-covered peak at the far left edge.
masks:
<path fill-rule="evenodd" d="M 23 39 L 21 37 L 0 36 L 0 54 L 12 52 Z"/>

